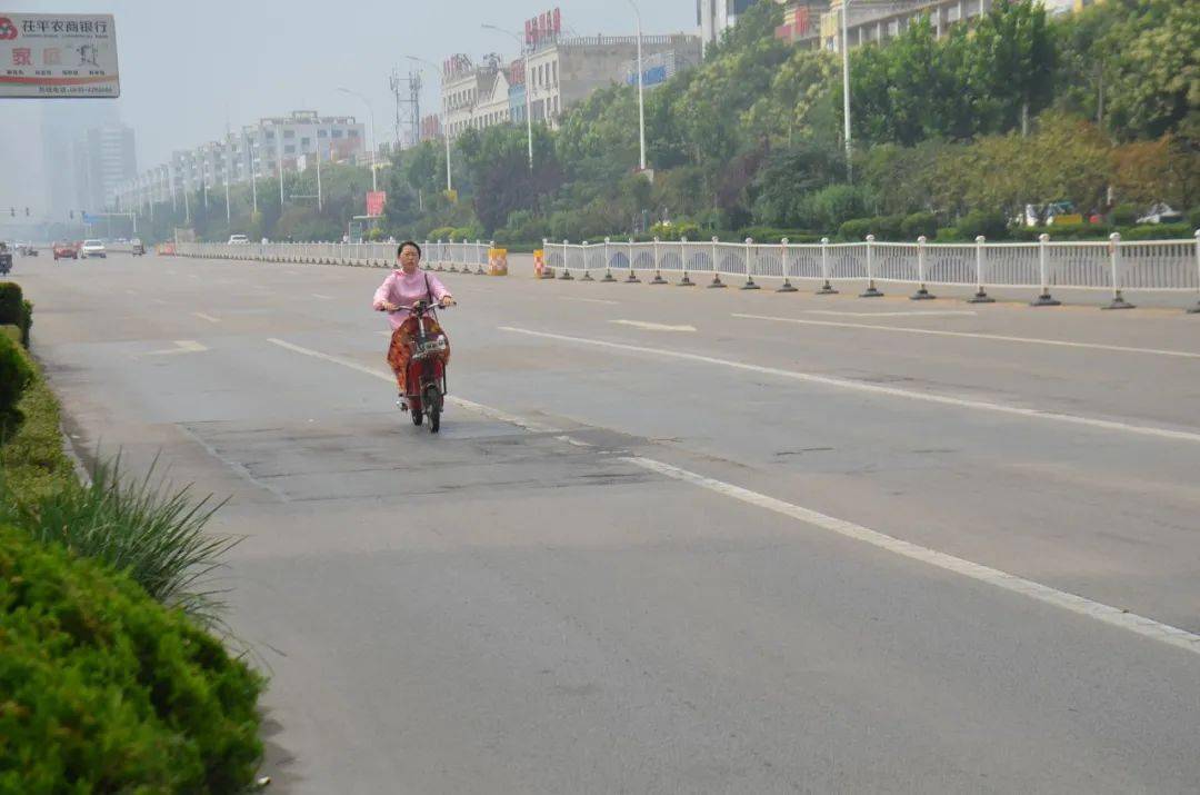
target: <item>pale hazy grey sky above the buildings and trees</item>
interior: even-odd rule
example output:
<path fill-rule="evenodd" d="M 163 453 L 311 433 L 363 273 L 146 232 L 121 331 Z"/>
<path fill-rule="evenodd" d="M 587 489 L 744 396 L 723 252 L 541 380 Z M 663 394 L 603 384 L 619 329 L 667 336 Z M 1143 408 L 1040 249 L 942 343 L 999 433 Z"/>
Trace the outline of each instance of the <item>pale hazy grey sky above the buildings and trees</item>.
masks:
<path fill-rule="evenodd" d="M 395 128 L 388 74 L 407 74 L 415 55 L 440 64 L 452 53 L 515 55 L 517 46 L 481 23 L 523 31 L 524 19 L 552 0 L 8 0 L 10 12 L 112 13 L 121 70 L 122 121 L 137 132 L 138 169 L 164 162 L 173 149 L 196 147 L 260 116 L 294 109 L 353 114 L 380 141 Z M 640 0 L 644 32 L 695 32 L 695 0 Z M 563 25 L 578 35 L 632 34 L 628 0 L 564 0 Z M 437 80 L 426 68 L 421 113 L 437 108 Z M 19 153 L 36 136 L 37 100 L 0 100 L 0 151 Z M 108 100 L 88 100 L 108 102 Z M 11 124 L 16 122 L 16 124 Z M 370 131 L 368 131 L 370 135 Z M 5 142 L 4 138 L 10 138 Z"/>

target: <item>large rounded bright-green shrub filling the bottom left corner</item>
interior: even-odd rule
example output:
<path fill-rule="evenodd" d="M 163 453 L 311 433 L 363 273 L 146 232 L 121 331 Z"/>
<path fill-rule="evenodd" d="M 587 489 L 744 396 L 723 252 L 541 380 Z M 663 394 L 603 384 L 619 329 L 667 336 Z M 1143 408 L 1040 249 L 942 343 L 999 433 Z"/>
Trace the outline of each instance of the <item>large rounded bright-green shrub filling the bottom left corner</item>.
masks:
<path fill-rule="evenodd" d="M 0 791 L 241 791 L 262 688 L 127 578 L 0 527 Z"/>

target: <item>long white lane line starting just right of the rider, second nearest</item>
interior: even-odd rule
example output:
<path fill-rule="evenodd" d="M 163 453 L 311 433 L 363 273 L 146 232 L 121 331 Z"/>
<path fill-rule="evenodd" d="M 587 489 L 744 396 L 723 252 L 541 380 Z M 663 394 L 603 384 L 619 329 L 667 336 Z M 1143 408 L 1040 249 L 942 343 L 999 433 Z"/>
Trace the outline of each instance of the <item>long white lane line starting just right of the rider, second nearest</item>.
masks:
<path fill-rule="evenodd" d="M 560 340 L 563 342 L 593 345 L 596 347 L 612 348 L 616 351 L 630 351 L 632 353 L 649 353 L 653 355 L 671 357 L 674 359 L 685 359 L 688 361 L 700 361 L 702 364 L 718 364 L 725 367 L 734 367 L 737 370 L 749 370 L 750 372 L 761 372 L 764 375 L 779 376 L 781 378 L 792 378 L 794 381 L 805 381 L 808 383 L 823 384 L 826 387 L 834 387 L 836 389 L 854 389 L 857 391 L 866 391 L 876 395 L 887 395 L 889 398 L 906 398 L 908 400 L 923 400 L 925 402 L 941 404 L 943 406 L 958 406 L 959 408 L 978 408 L 983 411 L 997 412 L 1001 414 L 1012 414 L 1015 417 L 1030 417 L 1034 419 L 1069 423 L 1073 425 L 1086 425 L 1088 428 L 1099 428 L 1106 431 L 1122 431 L 1126 434 L 1139 434 L 1141 436 L 1156 436 L 1158 438 L 1169 438 L 1181 442 L 1194 442 L 1194 443 L 1200 442 L 1200 434 L 1196 434 L 1194 431 L 1177 431 L 1169 428 L 1153 428 L 1150 425 L 1130 425 L 1128 423 L 1118 423 L 1109 419 L 1097 419 L 1094 417 L 1076 417 L 1075 414 L 1062 414 L 1058 412 L 1044 411 L 1040 408 L 1024 408 L 1021 406 L 1006 406 L 1003 404 L 992 404 L 985 400 L 967 400 L 962 398 L 949 398 L 947 395 L 935 395 L 923 391 L 911 391 L 908 389 L 898 389 L 895 387 L 882 387 L 878 384 L 862 383 L 859 381 L 847 381 L 845 378 L 818 376 L 811 372 L 782 370 L 780 367 L 764 367 L 757 364 L 746 364 L 745 361 L 718 359 L 716 357 L 706 357 L 698 353 L 685 353 L 683 351 L 670 351 L 667 348 L 652 348 L 641 345 L 623 345 L 620 342 L 589 340 L 582 336 L 568 336 L 565 334 L 533 331 L 529 329 L 521 329 L 511 325 L 500 325 L 499 329 L 502 331 L 512 331 L 514 334 L 539 336 L 539 337 L 545 337 L 547 340 Z"/>

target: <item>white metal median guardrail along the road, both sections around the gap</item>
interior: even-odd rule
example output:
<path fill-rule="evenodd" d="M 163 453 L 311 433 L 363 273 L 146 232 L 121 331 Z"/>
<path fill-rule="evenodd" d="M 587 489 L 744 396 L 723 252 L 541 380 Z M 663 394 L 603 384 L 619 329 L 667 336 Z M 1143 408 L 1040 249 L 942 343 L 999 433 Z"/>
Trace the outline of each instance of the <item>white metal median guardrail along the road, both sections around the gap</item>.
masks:
<path fill-rule="evenodd" d="M 425 241 L 428 268 L 482 273 L 491 243 Z M 175 253 L 185 257 L 256 259 L 311 264 L 392 267 L 395 244 L 365 243 L 180 243 Z M 976 288 L 972 300 L 986 301 L 989 287 L 1038 289 L 1037 304 L 1054 305 L 1051 288 L 1099 288 L 1112 292 L 1109 306 L 1128 306 L 1122 291 L 1200 291 L 1200 231 L 1193 240 L 1124 241 L 1114 233 L 1108 240 L 1054 241 L 1043 234 L 1034 243 L 864 243 L 757 244 L 751 239 L 726 243 L 697 241 L 544 243 L 547 274 L 559 279 L 592 281 L 641 281 L 667 283 L 664 274 L 678 275 L 680 283 L 707 281 L 725 287 L 740 281 L 757 289 L 761 280 L 782 282 L 778 289 L 793 291 L 792 280 L 816 280 L 817 292 L 833 293 L 834 282 L 864 282 L 864 297 L 882 294 L 877 283 L 914 285 L 913 298 L 929 298 L 928 286 Z M 695 277 L 695 281 L 694 279 Z M 1200 307 L 1200 304 L 1198 304 Z"/>

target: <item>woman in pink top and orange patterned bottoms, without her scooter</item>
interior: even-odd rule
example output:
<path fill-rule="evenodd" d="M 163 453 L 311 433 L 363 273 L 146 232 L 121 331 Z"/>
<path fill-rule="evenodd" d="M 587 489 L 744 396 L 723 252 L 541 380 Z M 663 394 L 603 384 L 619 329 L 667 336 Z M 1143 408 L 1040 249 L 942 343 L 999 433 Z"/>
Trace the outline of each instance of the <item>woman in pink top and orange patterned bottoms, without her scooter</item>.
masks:
<path fill-rule="evenodd" d="M 412 359 L 412 342 L 416 334 L 416 318 L 407 312 L 401 312 L 415 304 L 425 300 L 430 304 L 438 304 L 442 307 L 454 306 L 454 295 L 445 288 L 437 276 L 428 271 L 421 271 L 421 247 L 412 240 L 400 244 L 396 250 L 396 262 L 400 270 L 394 270 L 379 285 L 374 294 L 373 307 L 377 312 L 389 312 L 388 322 L 391 324 L 391 345 L 388 348 L 388 364 L 396 373 L 396 384 L 400 387 L 400 405 L 402 411 L 408 411 L 404 400 L 407 393 L 408 363 Z M 426 334 L 443 334 L 442 327 L 432 316 L 425 317 Z M 443 365 L 450 360 L 449 348 L 439 354 Z"/>

